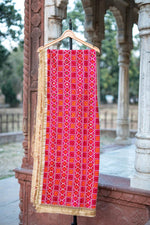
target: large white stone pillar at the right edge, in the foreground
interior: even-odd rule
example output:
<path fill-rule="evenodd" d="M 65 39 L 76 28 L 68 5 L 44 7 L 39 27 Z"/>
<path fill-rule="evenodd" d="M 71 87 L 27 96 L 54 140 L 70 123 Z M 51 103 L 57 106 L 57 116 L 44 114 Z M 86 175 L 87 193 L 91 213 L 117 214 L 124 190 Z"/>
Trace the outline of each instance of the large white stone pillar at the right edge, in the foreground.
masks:
<path fill-rule="evenodd" d="M 150 0 L 136 0 L 141 37 L 136 173 L 131 186 L 150 190 Z"/>

